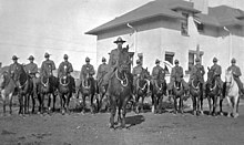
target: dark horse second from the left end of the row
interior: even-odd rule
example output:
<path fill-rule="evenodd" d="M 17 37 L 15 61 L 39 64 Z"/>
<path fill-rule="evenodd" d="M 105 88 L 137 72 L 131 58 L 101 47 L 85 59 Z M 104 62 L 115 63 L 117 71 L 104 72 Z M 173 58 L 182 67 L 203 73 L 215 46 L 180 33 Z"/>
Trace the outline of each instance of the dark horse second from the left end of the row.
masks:
<path fill-rule="evenodd" d="M 21 64 L 17 66 L 13 73 L 16 77 L 14 80 L 17 80 L 16 84 L 19 93 L 19 114 L 24 115 L 29 113 L 30 95 L 33 95 L 33 81 Z M 32 105 L 32 111 L 34 110 L 33 107 L 34 106 Z"/>

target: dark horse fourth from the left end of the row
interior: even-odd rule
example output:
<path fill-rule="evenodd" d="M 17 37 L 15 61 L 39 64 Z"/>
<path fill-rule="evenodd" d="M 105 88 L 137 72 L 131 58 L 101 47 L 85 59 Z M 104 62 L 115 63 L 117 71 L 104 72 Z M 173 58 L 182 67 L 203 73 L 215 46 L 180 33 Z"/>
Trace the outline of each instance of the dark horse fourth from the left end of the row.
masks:
<path fill-rule="evenodd" d="M 73 86 L 74 85 L 74 86 Z M 73 87 L 75 87 L 74 79 L 68 73 L 64 73 L 59 79 L 59 95 L 60 95 L 60 106 L 61 113 L 64 114 L 65 111 L 69 113 L 70 99 L 72 97 Z"/>

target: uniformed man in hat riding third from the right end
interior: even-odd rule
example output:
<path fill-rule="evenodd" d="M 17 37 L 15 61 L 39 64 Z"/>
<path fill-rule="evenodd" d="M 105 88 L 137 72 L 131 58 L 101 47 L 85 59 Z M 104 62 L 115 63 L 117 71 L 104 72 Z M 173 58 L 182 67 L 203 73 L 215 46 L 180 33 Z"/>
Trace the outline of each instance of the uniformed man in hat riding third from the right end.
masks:
<path fill-rule="evenodd" d="M 201 95 L 203 96 L 203 90 L 205 90 L 205 84 L 204 84 L 204 74 L 205 70 L 204 66 L 201 64 L 201 61 L 199 58 L 195 59 L 195 65 L 191 70 L 190 79 L 189 79 L 189 85 L 191 85 L 192 80 L 199 79 L 200 84 L 201 84 Z"/>

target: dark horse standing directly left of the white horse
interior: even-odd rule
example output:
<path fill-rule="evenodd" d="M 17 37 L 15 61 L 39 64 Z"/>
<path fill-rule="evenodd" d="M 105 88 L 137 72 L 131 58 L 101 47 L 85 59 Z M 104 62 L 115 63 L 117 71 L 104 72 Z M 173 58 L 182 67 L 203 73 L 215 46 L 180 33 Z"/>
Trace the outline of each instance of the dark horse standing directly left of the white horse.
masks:
<path fill-rule="evenodd" d="M 207 68 L 209 72 L 207 72 L 207 81 L 206 81 L 206 97 L 209 100 L 209 107 L 210 107 L 210 115 L 212 114 L 213 116 L 216 115 L 216 106 L 217 106 L 217 97 L 221 96 L 221 89 L 217 85 L 216 82 L 216 76 L 214 75 L 214 71 L 211 70 L 210 68 Z M 213 101 L 213 105 L 211 103 L 211 100 Z M 220 112 L 221 114 L 223 114 L 222 112 L 222 102 L 223 102 L 223 97 L 220 97 Z M 213 106 L 213 107 L 212 107 Z"/>

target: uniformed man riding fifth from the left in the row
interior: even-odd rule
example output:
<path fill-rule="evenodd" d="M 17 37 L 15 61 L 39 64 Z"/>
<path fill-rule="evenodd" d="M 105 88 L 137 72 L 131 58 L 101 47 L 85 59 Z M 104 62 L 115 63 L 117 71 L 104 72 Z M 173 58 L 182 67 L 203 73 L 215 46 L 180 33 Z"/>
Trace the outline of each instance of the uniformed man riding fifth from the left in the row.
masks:
<path fill-rule="evenodd" d="M 81 74 L 80 74 L 80 80 L 81 83 L 83 83 L 83 81 L 85 80 L 85 77 L 93 77 L 93 75 L 95 74 L 94 68 L 92 64 L 90 64 L 90 59 L 87 56 L 85 58 L 85 63 L 84 65 L 82 65 L 81 68 Z"/>

